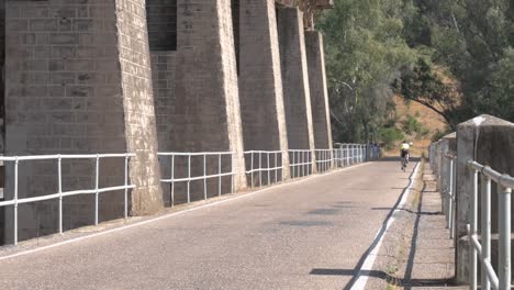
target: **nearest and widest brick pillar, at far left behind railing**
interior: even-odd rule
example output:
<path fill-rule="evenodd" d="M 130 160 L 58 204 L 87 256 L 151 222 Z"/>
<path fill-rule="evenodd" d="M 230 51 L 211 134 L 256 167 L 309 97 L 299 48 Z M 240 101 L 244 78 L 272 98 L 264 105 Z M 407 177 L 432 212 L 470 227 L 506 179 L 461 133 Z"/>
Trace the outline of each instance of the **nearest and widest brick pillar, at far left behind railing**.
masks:
<path fill-rule="evenodd" d="M 134 214 L 161 208 L 144 0 L 7 1 L 7 155 L 136 153 Z M 64 190 L 90 189 L 91 161 L 63 164 Z M 123 160 L 102 160 L 100 186 L 123 185 Z M 12 166 L 7 191 L 12 198 Z M 56 163 L 22 163 L 20 197 L 56 192 Z M 91 224 L 92 196 L 64 199 L 64 227 Z M 104 193 L 100 220 L 123 214 Z M 57 202 L 21 205 L 20 238 L 54 233 Z M 12 226 L 12 212 L 7 213 Z M 12 238 L 12 228 L 7 228 Z"/>

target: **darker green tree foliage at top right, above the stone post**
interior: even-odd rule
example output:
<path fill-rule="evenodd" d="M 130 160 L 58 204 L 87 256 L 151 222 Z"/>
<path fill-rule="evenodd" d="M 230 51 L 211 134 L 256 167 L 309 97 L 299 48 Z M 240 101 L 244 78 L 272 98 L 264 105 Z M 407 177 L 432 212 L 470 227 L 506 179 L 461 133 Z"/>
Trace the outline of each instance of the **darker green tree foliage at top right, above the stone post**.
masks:
<path fill-rule="evenodd" d="M 514 121 L 512 0 L 415 0 L 417 15 L 405 35 L 429 46 L 431 59 L 459 81 L 462 100 L 454 122 L 489 113 Z"/>

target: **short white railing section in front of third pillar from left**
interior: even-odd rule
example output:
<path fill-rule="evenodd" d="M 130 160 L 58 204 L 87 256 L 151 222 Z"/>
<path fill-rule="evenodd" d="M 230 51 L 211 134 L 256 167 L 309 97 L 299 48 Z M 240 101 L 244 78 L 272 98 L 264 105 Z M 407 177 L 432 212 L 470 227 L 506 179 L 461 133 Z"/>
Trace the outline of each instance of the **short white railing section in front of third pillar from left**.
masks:
<path fill-rule="evenodd" d="M 252 188 L 254 188 L 256 179 L 259 182 L 259 187 L 262 187 L 262 179 L 265 177 L 267 186 L 283 180 L 282 154 L 282 150 L 245 152 L 245 164 L 248 168 L 246 175 L 249 176 Z"/>

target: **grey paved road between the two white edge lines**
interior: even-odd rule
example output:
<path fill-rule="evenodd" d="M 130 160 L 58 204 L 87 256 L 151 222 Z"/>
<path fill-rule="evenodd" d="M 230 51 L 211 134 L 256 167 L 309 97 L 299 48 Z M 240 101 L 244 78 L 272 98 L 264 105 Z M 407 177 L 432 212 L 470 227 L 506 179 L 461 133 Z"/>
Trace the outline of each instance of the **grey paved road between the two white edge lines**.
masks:
<path fill-rule="evenodd" d="M 2 260 L 0 289 L 342 289 L 407 186 L 398 165 L 366 164 Z"/>

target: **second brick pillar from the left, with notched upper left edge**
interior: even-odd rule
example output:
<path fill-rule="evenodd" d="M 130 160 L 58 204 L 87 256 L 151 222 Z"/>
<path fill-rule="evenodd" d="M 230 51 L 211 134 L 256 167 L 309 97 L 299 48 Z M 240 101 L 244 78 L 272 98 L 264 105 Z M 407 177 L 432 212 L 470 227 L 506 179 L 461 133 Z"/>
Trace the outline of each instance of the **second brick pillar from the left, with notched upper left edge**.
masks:
<path fill-rule="evenodd" d="M 176 35 L 176 52 L 152 53 L 159 150 L 233 152 L 233 158 L 222 158 L 222 170 L 230 171 L 233 164 L 234 189 L 241 190 L 246 177 L 231 1 L 177 0 Z M 187 158 L 175 161 L 175 177 L 186 177 Z M 206 163 L 208 174 L 217 172 L 217 156 Z M 191 176 L 203 175 L 203 157 L 192 158 L 191 165 Z M 231 178 L 222 183 L 228 192 Z M 180 186 L 177 202 L 186 200 Z M 209 180 L 208 188 L 208 196 L 217 194 L 217 180 Z M 203 181 L 191 182 L 190 191 L 192 200 L 203 199 Z"/>

